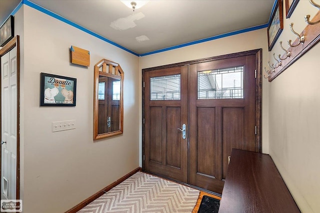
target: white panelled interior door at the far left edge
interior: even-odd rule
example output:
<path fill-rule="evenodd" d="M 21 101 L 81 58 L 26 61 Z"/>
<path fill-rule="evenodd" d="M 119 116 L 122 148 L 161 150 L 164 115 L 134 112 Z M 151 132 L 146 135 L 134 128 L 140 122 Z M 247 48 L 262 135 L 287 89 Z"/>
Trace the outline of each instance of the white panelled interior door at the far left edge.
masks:
<path fill-rule="evenodd" d="M 1 200 L 16 193 L 16 47 L 1 57 Z"/>

